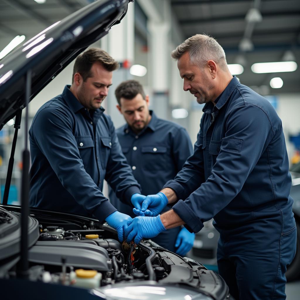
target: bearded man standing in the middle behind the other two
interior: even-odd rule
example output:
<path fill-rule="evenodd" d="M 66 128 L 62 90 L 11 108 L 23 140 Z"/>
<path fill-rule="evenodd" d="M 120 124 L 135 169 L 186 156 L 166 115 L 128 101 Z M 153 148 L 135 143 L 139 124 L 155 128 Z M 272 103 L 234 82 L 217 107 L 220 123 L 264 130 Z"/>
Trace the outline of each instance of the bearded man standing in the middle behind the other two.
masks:
<path fill-rule="evenodd" d="M 115 95 L 117 108 L 127 122 L 116 130 L 122 151 L 143 194 L 158 192 L 193 153 L 190 137 L 183 127 L 158 119 L 149 111 L 149 96 L 138 81 L 122 82 Z M 120 202 L 112 189 L 109 198 L 118 211 L 135 216 L 132 206 Z M 164 211 L 169 209 L 166 207 Z M 186 228 L 176 227 L 160 233 L 153 241 L 184 256 L 193 246 L 194 238 L 195 234 Z"/>

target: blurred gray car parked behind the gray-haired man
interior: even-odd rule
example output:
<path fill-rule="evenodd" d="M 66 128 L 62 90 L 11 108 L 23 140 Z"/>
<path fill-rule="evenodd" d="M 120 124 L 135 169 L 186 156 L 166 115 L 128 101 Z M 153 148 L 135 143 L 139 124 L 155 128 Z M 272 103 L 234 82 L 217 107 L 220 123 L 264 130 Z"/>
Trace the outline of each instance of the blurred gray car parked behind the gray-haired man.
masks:
<path fill-rule="evenodd" d="M 287 281 L 298 279 L 300 275 L 300 163 L 290 168 L 292 175 L 291 197 L 294 199 L 293 212 L 297 226 L 297 250 L 294 260 L 286 271 Z M 204 223 L 196 233 L 190 257 L 200 260 L 208 269 L 217 271 L 217 243 L 219 232 L 213 226 L 213 219 Z"/>

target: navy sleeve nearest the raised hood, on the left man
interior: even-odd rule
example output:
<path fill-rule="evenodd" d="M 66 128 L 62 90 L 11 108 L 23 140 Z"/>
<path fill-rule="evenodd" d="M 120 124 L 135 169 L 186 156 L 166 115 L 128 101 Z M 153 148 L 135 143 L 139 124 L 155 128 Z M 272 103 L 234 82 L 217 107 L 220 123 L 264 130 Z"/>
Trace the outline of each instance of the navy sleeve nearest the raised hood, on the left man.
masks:
<path fill-rule="evenodd" d="M 62 109 L 45 107 L 34 122 L 38 130 L 32 138 L 75 201 L 100 221 L 116 211 L 84 169 L 72 133 L 72 117 Z"/>

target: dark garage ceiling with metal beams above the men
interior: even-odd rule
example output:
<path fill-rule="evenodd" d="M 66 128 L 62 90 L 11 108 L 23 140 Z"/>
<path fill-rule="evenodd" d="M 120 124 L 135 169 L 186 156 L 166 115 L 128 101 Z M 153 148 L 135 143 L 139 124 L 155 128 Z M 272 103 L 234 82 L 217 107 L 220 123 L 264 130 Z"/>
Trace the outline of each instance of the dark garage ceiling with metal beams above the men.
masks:
<path fill-rule="evenodd" d="M 28 40 L 90 2 L 0 0 L 0 50 L 16 35 L 25 35 Z M 171 0 L 171 5 L 185 38 L 205 32 L 223 46 L 229 64 L 243 63 L 244 73 L 238 75 L 242 83 L 264 95 L 300 92 L 299 0 Z M 246 20 L 251 8 L 256 10 L 250 20 L 261 16 L 260 21 Z M 253 49 L 241 49 L 243 38 L 252 43 Z M 255 62 L 281 61 L 285 55 L 294 56 L 298 64 L 295 72 L 254 74 L 250 69 Z M 282 88 L 270 88 L 273 77 L 283 79 Z"/>

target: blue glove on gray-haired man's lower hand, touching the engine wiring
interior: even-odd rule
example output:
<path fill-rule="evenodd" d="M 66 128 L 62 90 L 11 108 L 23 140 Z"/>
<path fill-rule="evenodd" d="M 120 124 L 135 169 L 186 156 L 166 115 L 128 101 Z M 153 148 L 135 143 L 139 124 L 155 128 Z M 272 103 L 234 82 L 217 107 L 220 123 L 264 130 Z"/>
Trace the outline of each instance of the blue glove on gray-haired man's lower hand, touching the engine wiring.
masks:
<path fill-rule="evenodd" d="M 130 243 L 134 240 L 138 244 L 142 238 L 153 238 L 166 230 L 161 223 L 161 216 L 156 217 L 135 217 L 128 221 L 128 227 L 125 229 L 125 240 Z"/>

